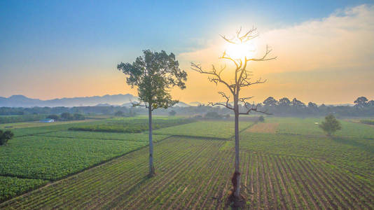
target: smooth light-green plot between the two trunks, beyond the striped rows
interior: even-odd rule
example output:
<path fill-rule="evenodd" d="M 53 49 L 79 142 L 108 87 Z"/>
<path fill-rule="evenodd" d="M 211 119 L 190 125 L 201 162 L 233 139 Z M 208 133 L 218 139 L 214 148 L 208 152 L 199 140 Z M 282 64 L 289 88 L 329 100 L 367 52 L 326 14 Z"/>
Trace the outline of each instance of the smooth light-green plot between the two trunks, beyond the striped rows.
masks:
<path fill-rule="evenodd" d="M 239 129 L 253 125 L 254 122 L 240 122 Z M 178 135 L 186 137 L 209 137 L 215 139 L 228 139 L 234 135 L 234 123 L 231 121 L 199 121 L 186 125 L 178 125 L 155 130 L 154 134 Z"/>

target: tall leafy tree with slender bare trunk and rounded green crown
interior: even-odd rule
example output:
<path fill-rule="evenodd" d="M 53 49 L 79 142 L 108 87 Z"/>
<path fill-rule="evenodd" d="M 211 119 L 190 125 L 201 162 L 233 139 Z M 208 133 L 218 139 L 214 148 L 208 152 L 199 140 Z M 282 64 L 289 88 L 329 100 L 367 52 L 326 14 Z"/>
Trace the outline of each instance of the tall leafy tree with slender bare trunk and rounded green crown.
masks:
<path fill-rule="evenodd" d="M 179 62 L 173 53 L 167 55 L 163 50 L 161 52 L 144 50 L 143 54 L 132 64 L 121 62 L 117 69 L 125 73 L 128 85 L 132 88 L 137 87 L 139 103 L 133 105 L 146 106 L 148 109 L 149 176 L 154 176 L 152 111 L 158 108 L 167 109 L 178 102 L 172 99 L 169 89 L 174 86 L 186 88 L 187 73 L 179 69 Z"/>

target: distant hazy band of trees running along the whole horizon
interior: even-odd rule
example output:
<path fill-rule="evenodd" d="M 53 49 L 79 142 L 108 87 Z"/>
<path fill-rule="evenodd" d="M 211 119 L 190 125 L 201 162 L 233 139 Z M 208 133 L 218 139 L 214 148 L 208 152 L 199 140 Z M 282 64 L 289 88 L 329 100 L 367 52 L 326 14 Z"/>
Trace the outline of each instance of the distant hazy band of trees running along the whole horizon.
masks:
<path fill-rule="evenodd" d="M 239 109 L 245 111 L 243 104 L 239 104 Z M 275 116 L 327 116 L 333 114 L 337 117 L 362 117 L 374 116 L 374 100 L 368 100 L 366 97 L 358 97 L 354 100 L 354 106 L 331 106 L 317 105 L 314 102 L 305 104 L 300 100 L 288 99 L 283 97 L 279 100 L 274 97 L 268 97 L 262 103 L 258 104 L 259 110 L 267 110 Z M 230 110 L 219 106 L 173 106 L 169 109 L 156 109 L 153 111 L 156 115 L 170 116 L 205 116 L 209 112 L 219 113 L 221 116 L 230 114 Z M 34 107 L 34 108 L 11 108 L 0 107 L 0 116 L 20 116 L 34 115 L 29 118 L 41 118 L 35 115 L 48 116 L 51 114 L 60 115 L 61 113 L 80 113 L 88 114 L 104 114 L 113 116 L 135 116 L 136 114 L 148 114 L 148 110 L 144 107 L 125 107 L 125 106 L 76 106 L 76 107 Z"/>

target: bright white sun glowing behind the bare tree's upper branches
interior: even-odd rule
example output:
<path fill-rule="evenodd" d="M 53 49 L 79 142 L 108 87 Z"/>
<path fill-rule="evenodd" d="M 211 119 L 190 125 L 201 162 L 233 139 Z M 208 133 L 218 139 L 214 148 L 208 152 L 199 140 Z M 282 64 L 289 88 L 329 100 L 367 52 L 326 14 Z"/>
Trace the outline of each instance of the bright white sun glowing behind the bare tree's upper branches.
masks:
<path fill-rule="evenodd" d="M 233 59 L 244 59 L 254 57 L 256 45 L 247 41 L 244 43 L 226 43 L 226 54 Z"/>

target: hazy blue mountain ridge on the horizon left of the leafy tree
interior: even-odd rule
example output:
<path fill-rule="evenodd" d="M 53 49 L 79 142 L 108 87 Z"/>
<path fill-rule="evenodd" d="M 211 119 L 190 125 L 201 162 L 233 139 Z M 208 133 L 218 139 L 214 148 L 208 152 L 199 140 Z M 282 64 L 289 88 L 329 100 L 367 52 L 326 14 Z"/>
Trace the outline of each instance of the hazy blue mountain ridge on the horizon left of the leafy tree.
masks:
<path fill-rule="evenodd" d="M 121 106 L 130 102 L 136 102 L 137 97 L 132 94 L 106 94 L 104 96 L 94 97 L 74 97 L 74 98 L 62 98 L 62 99 L 30 99 L 24 95 L 13 95 L 11 97 L 0 97 L 0 107 L 34 107 L 34 106 Z"/>

